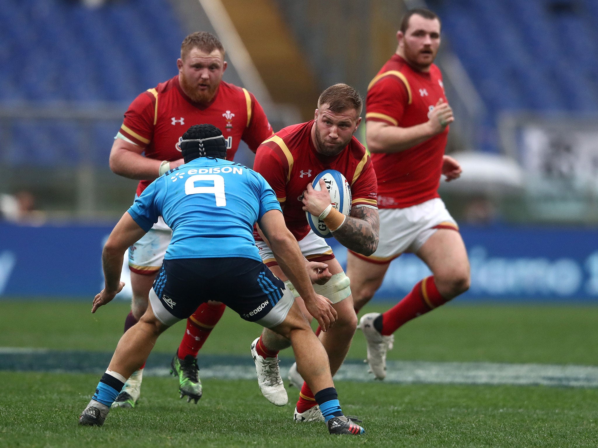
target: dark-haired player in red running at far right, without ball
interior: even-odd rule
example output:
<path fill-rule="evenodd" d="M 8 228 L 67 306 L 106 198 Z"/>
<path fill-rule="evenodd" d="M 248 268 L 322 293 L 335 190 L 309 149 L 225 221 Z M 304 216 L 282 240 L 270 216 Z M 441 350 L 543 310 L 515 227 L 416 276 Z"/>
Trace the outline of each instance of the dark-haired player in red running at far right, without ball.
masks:
<path fill-rule="evenodd" d="M 469 288 L 469 261 L 456 222 L 438 195 L 441 174 L 459 177 L 459 163 L 444 155 L 453 121 L 440 70 L 440 19 L 432 11 L 408 11 L 396 33 L 396 53 L 370 82 L 366 138 L 378 178 L 380 244 L 373 254 L 349 251 L 347 274 L 355 308 L 382 284 L 391 260 L 413 252 L 432 275 L 383 314 L 359 321 L 368 342 L 368 363 L 386 376 L 386 351 L 402 324 L 443 305 Z"/>

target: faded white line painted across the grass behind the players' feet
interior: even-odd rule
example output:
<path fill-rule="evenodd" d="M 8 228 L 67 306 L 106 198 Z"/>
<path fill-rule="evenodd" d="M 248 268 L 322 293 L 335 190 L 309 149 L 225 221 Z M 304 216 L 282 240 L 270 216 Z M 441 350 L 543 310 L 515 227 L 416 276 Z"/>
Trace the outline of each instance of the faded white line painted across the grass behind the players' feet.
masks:
<path fill-rule="evenodd" d="M 96 372 L 105 369 L 111 354 L 63 352 L 44 348 L 0 347 L 0 370 L 39 372 Z M 153 358 L 152 358 L 153 357 Z M 144 375 L 168 376 L 168 355 L 151 355 Z M 249 357 L 199 359 L 201 378 L 255 379 Z M 282 360 L 282 378 L 288 374 L 289 360 Z M 152 365 L 164 367 L 152 367 Z M 373 381 L 367 364 L 348 360 L 335 376 L 340 381 Z M 428 383 L 465 385 L 545 385 L 598 388 L 597 366 L 507 363 L 437 363 L 429 361 L 388 361 L 386 383 Z"/>

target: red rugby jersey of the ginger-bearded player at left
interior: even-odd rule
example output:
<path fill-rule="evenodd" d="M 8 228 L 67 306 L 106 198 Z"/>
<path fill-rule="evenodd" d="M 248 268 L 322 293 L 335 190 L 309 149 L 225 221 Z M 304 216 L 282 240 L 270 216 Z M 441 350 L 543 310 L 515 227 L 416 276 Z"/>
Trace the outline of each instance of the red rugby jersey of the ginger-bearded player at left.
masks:
<path fill-rule="evenodd" d="M 173 161 L 181 158 L 179 138 L 194 124 L 218 127 L 227 140 L 227 159 L 232 160 L 240 140 L 256 151 L 272 135 L 272 128 L 253 94 L 221 81 L 212 102 L 194 103 L 179 84 L 179 76 L 140 94 L 124 114 L 120 133 L 145 149 L 145 157 Z M 141 180 L 140 195 L 152 181 Z"/>

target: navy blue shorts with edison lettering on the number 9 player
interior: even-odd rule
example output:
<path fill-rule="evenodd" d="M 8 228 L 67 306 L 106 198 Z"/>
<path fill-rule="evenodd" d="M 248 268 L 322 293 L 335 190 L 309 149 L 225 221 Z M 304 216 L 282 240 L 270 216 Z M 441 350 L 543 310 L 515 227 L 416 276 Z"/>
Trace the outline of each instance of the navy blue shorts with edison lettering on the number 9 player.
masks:
<path fill-rule="evenodd" d="M 165 259 L 149 296 L 155 316 L 166 325 L 216 300 L 247 321 L 271 327 L 284 320 L 293 301 L 264 263 L 242 257 Z"/>

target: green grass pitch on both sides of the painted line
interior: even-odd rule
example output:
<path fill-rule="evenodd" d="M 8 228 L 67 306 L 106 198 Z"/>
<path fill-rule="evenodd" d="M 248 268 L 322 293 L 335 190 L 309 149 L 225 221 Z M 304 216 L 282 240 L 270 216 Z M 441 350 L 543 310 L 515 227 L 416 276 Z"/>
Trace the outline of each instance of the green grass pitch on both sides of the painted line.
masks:
<path fill-rule="evenodd" d="M 0 301 L 0 346 L 112 351 L 128 305 L 114 302 L 95 315 L 90 308 L 90 301 Z M 389 359 L 596 365 L 597 318 L 592 306 L 450 304 L 398 330 Z M 182 323 L 168 330 L 155 351 L 173 353 L 183 332 Z M 248 356 L 259 333 L 227 310 L 202 352 Z M 358 332 L 349 357 L 364 354 Z M 344 412 L 364 419 L 365 437 L 293 424 L 297 389 L 277 408 L 255 381 L 214 378 L 202 378 L 197 405 L 178 399 L 175 379 L 144 378 L 136 409 L 111 412 L 102 428 L 80 427 L 101 373 L 0 371 L 0 447 L 566 447 L 598 440 L 598 389 L 373 381 L 336 383 Z"/>

